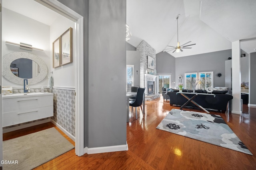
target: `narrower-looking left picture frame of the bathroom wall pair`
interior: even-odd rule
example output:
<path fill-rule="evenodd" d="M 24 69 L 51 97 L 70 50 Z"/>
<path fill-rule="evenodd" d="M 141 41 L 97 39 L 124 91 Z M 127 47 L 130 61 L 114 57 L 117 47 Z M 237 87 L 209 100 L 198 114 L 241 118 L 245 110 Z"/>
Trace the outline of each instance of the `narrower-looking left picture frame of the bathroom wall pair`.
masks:
<path fill-rule="evenodd" d="M 60 37 L 52 43 L 52 67 L 60 66 Z"/>

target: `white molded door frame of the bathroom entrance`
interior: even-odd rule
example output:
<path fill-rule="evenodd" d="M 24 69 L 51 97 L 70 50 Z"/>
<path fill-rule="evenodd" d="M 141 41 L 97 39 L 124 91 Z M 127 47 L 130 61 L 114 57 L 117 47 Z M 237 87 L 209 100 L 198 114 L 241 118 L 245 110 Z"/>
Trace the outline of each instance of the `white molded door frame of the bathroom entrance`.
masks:
<path fill-rule="evenodd" d="M 76 59 L 75 152 L 84 154 L 84 18 L 57 0 L 35 0 L 75 22 L 73 55 Z"/>

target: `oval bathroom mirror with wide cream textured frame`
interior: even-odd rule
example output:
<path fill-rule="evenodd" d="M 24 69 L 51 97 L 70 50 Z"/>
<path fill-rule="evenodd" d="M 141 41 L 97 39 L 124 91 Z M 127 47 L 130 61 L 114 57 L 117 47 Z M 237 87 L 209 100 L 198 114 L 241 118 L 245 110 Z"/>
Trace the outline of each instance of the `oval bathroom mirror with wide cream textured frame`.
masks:
<path fill-rule="evenodd" d="M 33 71 L 32 71 L 32 78 L 26 77 L 26 79 L 28 79 L 29 85 L 36 84 L 36 83 L 44 80 L 44 78 L 46 77 L 47 72 L 48 72 L 46 64 L 40 57 L 38 57 L 37 55 L 34 55 L 32 53 L 28 53 L 28 52 L 13 52 L 13 53 L 6 54 L 3 57 L 2 76 L 4 76 L 4 78 L 9 80 L 10 82 L 23 85 L 24 78 L 21 78 L 20 74 L 19 74 L 19 76 L 17 76 L 18 75 L 17 72 L 19 73 L 21 68 L 15 67 L 14 66 L 15 63 L 13 63 L 14 61 L 16 61 L 18 59 L 29 59 L 30 60 L 29 62 L 34 61 L 34 65 L 35 65 L 34 69 L 37 72 L 39 69 L 38 73 L 34 73 L 34 77 L 33 77 Z M 37 68 L 36 68 L 35 63 L 38 65 Z M 33 62 L 32 62 L 32 65 L 33 65 Z M 10 67 L 12 67 L 12 70 L 10 69 Z M 32 70 L 33 70 L 33 67 L 32 67 Z"/>

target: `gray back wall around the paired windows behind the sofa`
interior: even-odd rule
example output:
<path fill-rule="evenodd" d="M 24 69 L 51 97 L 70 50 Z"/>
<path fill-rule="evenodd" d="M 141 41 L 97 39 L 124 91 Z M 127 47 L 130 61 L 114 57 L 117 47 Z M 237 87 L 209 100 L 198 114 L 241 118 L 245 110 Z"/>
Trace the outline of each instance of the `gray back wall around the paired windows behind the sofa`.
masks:
<path fill-rule="evenodd" d="M 178 75 L 182 75 L 182 83 L 184 83 L 184 74 L 189 72 L 208 72 L 214 73 L 214 87 L 225 86 L 225 61 L 231 57 L 231 50 L 217 51 L 200 55 L 191 55 L 187 57 L 176 58 L 176 86 L 178 85 Z M 221 73 L 221 77 L 215 76 Z"/>

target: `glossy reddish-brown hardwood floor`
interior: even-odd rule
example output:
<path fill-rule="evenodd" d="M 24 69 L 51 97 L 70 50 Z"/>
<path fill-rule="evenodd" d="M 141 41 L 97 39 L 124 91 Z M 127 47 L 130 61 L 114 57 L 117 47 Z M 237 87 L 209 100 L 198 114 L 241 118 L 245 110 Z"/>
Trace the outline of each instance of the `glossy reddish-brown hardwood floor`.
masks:
<path fill-rule="evenodd" d="M 156 126 L 172 108 L 178 109 L 178 107 L 171 107 L 168 101 L 163 102 L 162 98 L 146 101 L 145 117 L 140 110 L 138 120 L 134 115 L 133 120 L 130 118 L 130 122 L 127 123 L 128 151 L 85 154 L 78 157 L 75 155 L 75 150 L 72 149 L 35 169 L 256 169 L 256 108 L 248 108 L 244 105 L 242 115 L 227 113 L 227 111 L 226 113 L 210 112 L 221 115 L 254 156 L 156 129 Z M 199 110 L 195 111 L 200 112 Z M 54 127 L 54 125 L 49 123 L 43 127 L 34 127 L 29 131 L 49 127 Z M 22 132 L 19 133 L 22 135 Z M 9 139 L 12 135 L 4 134 L 4 139 Z M 68 139 L 68 137 L 66 138 Z"/>

